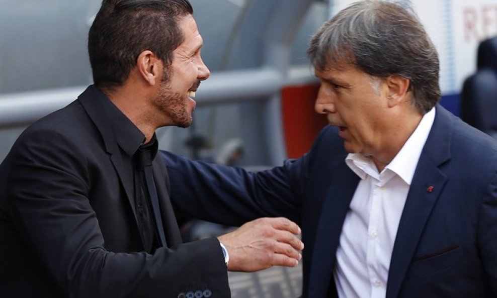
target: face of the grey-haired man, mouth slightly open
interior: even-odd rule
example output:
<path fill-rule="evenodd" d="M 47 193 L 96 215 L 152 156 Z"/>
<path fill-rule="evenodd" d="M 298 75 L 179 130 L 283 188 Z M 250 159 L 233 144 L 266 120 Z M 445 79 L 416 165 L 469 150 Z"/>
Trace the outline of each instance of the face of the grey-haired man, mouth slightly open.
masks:
<path fill-rule="evenodd" d="M 383 80 L 373 78 L 355 66 L 316 70 L 321 85 L 315 110 L 327 114 L 330 125 L 340 128 L 349 153 L 373 155 L 382 147 L 382 131 L 388 101 Z"/>

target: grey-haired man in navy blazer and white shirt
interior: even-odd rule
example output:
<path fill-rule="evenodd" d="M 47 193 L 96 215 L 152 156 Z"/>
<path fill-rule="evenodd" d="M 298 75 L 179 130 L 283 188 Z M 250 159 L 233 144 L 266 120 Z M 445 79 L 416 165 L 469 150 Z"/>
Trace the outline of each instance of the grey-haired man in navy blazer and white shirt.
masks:
<path fill-rule="evenodd" d="M 258 173 L 163 152 L 173 204 L 205 200 L 219 213 L 196 216 L 228 225 L 301 225 L 303 297 L 497 297 L 497 144 L 438 104 L 416 15 L 357 2 L 307 52 L 330 124 L 311 150 Z"/>

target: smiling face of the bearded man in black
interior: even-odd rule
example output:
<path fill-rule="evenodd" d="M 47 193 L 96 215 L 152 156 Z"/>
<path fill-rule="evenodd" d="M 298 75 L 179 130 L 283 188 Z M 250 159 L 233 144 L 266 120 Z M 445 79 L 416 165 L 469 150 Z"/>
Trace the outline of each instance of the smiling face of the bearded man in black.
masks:
<path fill-rule="evenodd" d="M 200 57 L 203 41 L 193 16 L 180 18 L 178 26 L 185 40 L 174 50 L 171 66 L 164 69 L 168 75 L 160 82 L 153 104 L 168 119 L 163 125 L 188 127 L 196 106 L 192 97 L 210 72 Z"/>

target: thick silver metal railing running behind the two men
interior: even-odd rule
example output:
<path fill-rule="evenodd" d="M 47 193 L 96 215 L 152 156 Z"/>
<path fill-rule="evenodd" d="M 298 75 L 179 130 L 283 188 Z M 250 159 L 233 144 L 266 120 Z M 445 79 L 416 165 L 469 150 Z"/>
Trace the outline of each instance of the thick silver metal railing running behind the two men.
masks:
<path fill-rule="evenodd" d="M 202 82 L 195 100 L 198 105 L 267 99 L 285 85 L 314 81 L 308 66 L 294 67 L 286 75 L 273 68 L 213 73 Z M 60 109 L 86 86 L 0 95 L 0 128 L 28 125 Z"/>

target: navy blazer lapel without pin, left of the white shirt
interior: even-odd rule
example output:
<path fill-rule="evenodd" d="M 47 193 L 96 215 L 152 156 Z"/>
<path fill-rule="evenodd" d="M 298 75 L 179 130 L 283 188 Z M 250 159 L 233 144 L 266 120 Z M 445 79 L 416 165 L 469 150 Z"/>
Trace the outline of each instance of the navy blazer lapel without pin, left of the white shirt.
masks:
<path fill-rule="evenodd" d="M 333 280 L 336 251 L 342 234 L 342 226 L 349 210 L 359 177 L 342 158 L 333 172 L 326 192 L 315 235 L 314 251 L 309 274 L 309 297 L 325 297 Z"/>

